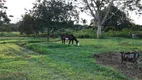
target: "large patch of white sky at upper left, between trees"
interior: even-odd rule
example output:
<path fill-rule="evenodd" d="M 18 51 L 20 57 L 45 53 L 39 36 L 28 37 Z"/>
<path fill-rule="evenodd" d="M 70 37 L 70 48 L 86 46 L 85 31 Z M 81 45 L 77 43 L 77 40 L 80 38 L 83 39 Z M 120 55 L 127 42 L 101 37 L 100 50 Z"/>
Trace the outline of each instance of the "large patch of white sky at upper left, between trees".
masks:
<path fill-rule="evenodd" d="M 21 15 L 25 13 L 26 9 L 32 8 L 32 3 L 36 0 L 6 0 L 5 5 L 8 7 L 7 14 L 13 15 L 13 18 L 10 18 L 11 22 L 17 22 L 21 19 Z"/>

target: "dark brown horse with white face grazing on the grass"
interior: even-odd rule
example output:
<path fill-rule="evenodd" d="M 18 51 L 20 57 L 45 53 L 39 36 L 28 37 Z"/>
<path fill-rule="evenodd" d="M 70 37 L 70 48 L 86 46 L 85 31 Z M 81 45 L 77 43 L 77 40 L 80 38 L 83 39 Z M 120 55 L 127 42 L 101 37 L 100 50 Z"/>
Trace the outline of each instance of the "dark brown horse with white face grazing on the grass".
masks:
<path fill-rule="evenodd" d="M 69 45 L 70 43 L 75 41 L 76 45 L 79 46 L 79 41 L 76 39 L 76 37 L 73 34 L 63 34 L 61 35 L 62 43 L 65 44 L 65 40 L 69 40 Z"/>

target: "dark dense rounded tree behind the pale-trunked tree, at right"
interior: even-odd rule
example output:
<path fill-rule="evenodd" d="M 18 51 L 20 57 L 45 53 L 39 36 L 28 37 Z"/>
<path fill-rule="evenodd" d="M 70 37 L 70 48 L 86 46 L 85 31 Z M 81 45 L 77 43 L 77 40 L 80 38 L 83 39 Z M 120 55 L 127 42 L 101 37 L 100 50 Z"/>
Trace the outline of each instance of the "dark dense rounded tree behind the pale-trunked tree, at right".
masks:
<path fill-rule="evenodd" d="M 115 13 L 117 11 L 117 13 Z M 115 14 L 114 14 L 115 13 Z M 105 14 L 105 13 L 104 13 Z M 113 15 L 113 16 L 112 16 Z M 113 28 L 115 30 L 121 30 L 124 28 L 128 28 L 128 25 L 131 25 L 131 19 L 117 7 L 112 6 L 111 12 L 108 16 L 112 16 L 103 24 L 105 31 L 109 30 L 109 28 Z"/>

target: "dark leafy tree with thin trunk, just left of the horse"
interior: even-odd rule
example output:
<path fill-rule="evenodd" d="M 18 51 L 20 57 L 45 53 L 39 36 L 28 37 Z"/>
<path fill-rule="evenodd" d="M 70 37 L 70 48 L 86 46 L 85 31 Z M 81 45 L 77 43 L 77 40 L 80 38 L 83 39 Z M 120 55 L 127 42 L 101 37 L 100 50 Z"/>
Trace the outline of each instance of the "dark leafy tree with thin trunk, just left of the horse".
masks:
<path fill-rule="evenodd" d="M 39 0 L 32 11 L 32 15 L 39 22 L 38 27 L 47 32 L 48 40 L 50 32 L 72 23 L 73 14 L 72 3 L 66 3 L 65 0 Z"/>

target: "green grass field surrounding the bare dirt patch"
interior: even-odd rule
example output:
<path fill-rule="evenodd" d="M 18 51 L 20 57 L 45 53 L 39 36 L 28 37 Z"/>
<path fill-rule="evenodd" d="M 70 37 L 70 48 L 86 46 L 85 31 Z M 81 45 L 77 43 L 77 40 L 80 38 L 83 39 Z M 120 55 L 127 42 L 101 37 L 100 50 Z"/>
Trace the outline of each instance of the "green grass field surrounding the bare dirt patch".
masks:
<path fill-rule="evenodd" d="M 141 39 L 79 39 L 80 46 L 58 39 L 0 37 L 0 80 L 135 80 L 96 64 L 102 52 L 142 51 Z"/>

